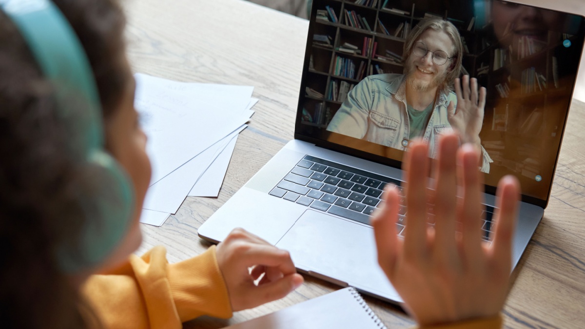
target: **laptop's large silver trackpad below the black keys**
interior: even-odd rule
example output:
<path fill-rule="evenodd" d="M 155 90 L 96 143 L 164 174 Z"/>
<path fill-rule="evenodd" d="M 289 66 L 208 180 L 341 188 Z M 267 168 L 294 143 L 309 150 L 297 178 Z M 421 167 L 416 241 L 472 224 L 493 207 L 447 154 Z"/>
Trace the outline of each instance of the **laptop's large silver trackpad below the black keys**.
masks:
<path fill-rule="evenodd" d="M 401 301 L 378 266 L 371 227 L 307 210 L 276 246 L 290 251 L 298 268 L 345 282 L 384 299 Z"/>

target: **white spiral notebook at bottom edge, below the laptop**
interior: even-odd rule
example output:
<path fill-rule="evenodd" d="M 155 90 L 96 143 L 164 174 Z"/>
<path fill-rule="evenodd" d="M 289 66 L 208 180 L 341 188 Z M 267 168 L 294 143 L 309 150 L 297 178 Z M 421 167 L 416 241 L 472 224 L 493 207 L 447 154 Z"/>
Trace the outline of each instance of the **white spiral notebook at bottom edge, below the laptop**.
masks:
<path fill-rule="evenodd" d="M 347 287 L 224 329 L 386 329 L 362 296 Z"/>

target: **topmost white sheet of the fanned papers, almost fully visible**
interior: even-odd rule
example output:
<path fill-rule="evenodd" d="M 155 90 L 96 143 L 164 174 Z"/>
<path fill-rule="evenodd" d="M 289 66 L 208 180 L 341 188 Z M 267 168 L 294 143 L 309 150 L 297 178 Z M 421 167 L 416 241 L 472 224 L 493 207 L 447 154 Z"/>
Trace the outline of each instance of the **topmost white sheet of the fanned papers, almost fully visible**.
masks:
<path fill-rule="evenodd" d="M 135 74 L 135 106 L 149 138 L 154 184 L 242 123 L 253 87 L 179 83 Z M 226 97 L 228 96 L 229 97 Z"/>

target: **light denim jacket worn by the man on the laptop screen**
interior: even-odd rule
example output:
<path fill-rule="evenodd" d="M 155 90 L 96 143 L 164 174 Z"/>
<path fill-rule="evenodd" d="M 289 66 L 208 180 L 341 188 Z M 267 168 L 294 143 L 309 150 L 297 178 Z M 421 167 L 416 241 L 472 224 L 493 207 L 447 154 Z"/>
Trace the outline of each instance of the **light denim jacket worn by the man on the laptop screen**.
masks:
<path fill-rule="evenodd" d="M 328 131 L 364 139 L 390 148 L 406 150 L 410 127 L 406 105 L 406 78 L 402 74 L 377 74 L 360 81 L 327 126 Z M 447 119 L 449 102 L 457 104 L 455 92 L 439 92 L 435 108 L 422 139 L 429 145 L 429 156 L 436 158 L 438 136 L 452 131 Z M 490 172 L 490 156 L 481 147 L 481 171 Z"/>

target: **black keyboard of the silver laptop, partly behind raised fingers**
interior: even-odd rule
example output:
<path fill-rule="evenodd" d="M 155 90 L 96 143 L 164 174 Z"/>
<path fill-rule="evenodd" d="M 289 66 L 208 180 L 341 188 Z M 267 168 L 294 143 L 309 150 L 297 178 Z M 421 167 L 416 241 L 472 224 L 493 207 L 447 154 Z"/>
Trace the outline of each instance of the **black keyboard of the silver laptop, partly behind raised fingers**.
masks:
<path fill-rule="evenodd" d="M 397 186 L 402 197 L 396 225 L 398 235 L 404 237 L 407 208 L 400 180 L 306 155 L 270 195 L 370 225 L 371 215 L 383 204 L 382 194 L 388 183 Z M 482 238 L 488 242 L 493 235 L 493 212 L 494 208 L 486 205 L 481 214 Z M 426 219 L 429 225 L 435 225 L 432 204 L 427 204 Z"/>

